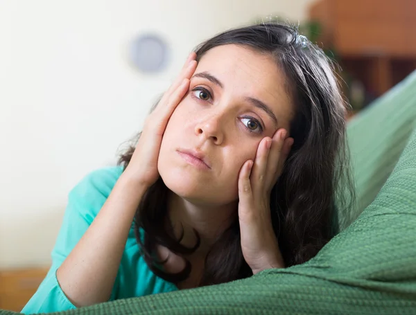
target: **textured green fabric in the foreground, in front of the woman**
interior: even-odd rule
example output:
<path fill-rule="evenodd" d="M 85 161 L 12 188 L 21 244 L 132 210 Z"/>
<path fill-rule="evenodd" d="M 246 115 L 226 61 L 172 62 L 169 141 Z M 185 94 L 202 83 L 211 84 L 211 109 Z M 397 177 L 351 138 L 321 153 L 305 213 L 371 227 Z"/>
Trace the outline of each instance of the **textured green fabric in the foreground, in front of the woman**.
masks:
<path fill-rule="evenodd" d="M 302 265 L 68 314 L 416 314 L 416 132 L 374 202 Z"/>

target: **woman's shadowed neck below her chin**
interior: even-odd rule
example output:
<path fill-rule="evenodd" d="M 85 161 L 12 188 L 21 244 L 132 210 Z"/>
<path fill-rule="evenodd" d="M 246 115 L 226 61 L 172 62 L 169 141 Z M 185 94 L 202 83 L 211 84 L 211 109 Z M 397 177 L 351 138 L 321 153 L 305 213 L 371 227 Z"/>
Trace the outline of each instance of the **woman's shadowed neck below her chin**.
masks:
<path fill-rule="evenodd" d="M 200 246 L 193 255 L 206 255 L 218 236 L 232 223 L 237 202 L 225 205 L 197 204 L 170 191 L 168 216 L 176 237 L 180 237 L 183 228 L 182 245 L 195 246 L 197 238 L 193 230 L 198 231 Z"/>

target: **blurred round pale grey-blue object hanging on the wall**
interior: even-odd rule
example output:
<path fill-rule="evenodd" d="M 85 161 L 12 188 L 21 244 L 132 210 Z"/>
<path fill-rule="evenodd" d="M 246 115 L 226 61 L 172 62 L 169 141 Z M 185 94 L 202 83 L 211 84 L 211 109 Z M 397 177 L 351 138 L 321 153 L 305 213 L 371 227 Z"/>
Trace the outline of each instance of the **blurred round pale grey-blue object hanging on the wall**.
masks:
<path fill-rule="evenodd" d="M 130 61 L 140 71 L 160 72 L 168 63 L 168 46 L 158 35 L 139 35 L 130 44 Z"/>

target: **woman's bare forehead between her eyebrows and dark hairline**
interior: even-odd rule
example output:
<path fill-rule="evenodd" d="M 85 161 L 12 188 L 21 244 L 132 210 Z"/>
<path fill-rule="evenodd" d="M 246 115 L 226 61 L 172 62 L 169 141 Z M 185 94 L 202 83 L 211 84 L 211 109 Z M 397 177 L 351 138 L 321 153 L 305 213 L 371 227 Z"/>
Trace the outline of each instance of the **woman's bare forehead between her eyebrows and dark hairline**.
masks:
<path fill-rule="evenodd" d="M 272 107 L 290 107 L 286 78 L 269 54 L 228 44 L 211 48 L 198 62 L 196 73 L 207 71 L 223 82 L 224 89 L 261 98 Z"/>

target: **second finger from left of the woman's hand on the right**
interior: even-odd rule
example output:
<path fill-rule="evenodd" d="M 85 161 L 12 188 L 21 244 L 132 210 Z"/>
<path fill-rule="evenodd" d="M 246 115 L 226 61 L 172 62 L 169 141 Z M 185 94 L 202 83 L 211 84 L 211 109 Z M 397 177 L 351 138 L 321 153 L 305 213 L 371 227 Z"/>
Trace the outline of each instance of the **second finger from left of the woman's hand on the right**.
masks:
<path fill-rule="evenodd" d="M 272 139 L 270 137 L 263 138 L 259 147 L 257 147 L 256 159 L 254 159 L 254 165 L 252 170 L 252 188 L 255 193 L 261 192 L 264 187 L 264 181 L 266 179 L 266 172 L 268 168 L 268 156 L 270 154 L 270 145 Z"/>

